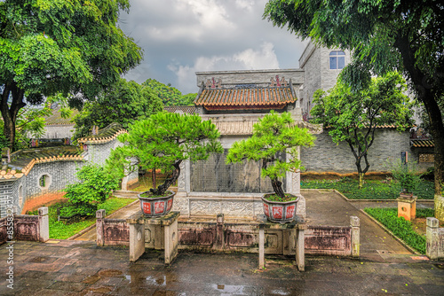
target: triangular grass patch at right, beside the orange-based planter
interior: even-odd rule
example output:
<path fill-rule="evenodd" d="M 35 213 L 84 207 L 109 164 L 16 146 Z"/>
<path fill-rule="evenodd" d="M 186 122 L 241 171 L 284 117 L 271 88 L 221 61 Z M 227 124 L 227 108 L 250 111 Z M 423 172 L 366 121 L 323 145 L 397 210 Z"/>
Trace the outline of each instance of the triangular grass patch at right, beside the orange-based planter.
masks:
<path fill-rule="evenodd" d="M 398 217 L 397 208 L 365 208 L 364 211 L 381 222 L 388 230 L 402 239 L 417 252 L 425 254 L 425 219 L 433 217 L 432 209 L 416 209 L 416 219 L 412 222 Z"/>

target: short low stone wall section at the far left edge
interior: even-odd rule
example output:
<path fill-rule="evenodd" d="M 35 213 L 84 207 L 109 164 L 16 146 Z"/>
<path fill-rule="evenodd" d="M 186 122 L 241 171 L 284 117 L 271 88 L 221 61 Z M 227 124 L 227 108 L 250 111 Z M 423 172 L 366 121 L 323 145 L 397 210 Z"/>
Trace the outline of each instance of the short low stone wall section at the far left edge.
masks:
<path fill-rule="evenodd" d="M 8 238 L 8 217 L 0 219 L 0 244 L 12 241 Z M 38 209 L 38 215 L 13 215 L 13 240 L 45 242 L 50 238 L 48 208 Z"/>

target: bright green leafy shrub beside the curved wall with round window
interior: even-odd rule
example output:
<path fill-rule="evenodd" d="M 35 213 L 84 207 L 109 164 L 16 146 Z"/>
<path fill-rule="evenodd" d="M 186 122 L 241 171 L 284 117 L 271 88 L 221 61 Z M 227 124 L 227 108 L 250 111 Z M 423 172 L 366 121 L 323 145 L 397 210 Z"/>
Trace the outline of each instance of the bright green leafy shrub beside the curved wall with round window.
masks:
<path fill-rule="evenodd" d="M 67 216 L 73 214 L 93 215 L 99 203 L 118 187 L 118 179 L 105 172 L 103 167 L 88 163 L 77 172 L 79 183 L 67 185 L 65 198 L 72 207 L 66 209 Z"/>

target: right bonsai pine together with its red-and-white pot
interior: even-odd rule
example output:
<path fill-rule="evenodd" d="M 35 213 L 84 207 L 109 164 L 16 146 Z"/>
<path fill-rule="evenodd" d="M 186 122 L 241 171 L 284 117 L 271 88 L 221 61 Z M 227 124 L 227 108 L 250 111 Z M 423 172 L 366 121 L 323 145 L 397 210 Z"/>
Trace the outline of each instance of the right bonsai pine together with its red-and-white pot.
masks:
<path fill-rule="evenodd" d="M 271 113 L 253 126 L 250 138 L 235 142 L 226 156 L 226 163 L 243 160 L 260 161 L 261 176 L 271 179 L 274 193 L 267 193 L 264 213 L 272 222 L 290 222 L 295 219 L 298 197 L 282 190 L 279 178 L 286 172 L 301 167 L 297 158 L 297 146 L 313 145 L 314 136 L 307 129 L 299 129 L 289 113 Z M 289 160 L 281 161 L 278 152 L 287 152 Z"/>

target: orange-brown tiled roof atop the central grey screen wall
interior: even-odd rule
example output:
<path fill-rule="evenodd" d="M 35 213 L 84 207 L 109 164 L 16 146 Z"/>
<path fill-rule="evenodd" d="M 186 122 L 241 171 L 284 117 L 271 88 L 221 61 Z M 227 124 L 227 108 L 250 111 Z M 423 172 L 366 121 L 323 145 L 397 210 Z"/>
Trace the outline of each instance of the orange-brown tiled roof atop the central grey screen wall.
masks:
<path fill-rule="evenodd" d="M 233 89 L 204 89 L 194 100 L 195 105 L 205 109 L 250 109 L 250 108 L 283 108 L 294 103 L 290 86 L 251 87 Z"/>

